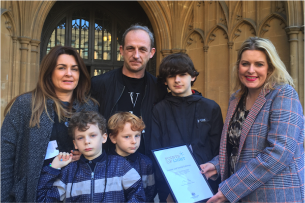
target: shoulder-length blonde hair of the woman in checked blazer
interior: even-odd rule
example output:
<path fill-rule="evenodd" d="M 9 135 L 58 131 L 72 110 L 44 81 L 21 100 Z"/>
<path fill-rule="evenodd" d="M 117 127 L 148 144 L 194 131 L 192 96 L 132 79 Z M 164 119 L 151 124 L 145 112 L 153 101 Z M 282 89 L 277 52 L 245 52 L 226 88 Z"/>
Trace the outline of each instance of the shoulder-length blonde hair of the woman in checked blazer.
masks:
<path fill-rule="evenodd" d="M 293 79 L 287 72 L 285 64 L 280 59 L 275 46 L 270 42 L 270 40 L 251 37 L 243 42 L 240 49 L 238 50 L 237 61 L 234 64 L 232 71 L 233 88 L 231 95 L 239 89 L 240 91 L 235 95 L 236 97 L 248 92 L 248 88 L 240 82 L 238 77 L 238 67 L 241 55 L 246 50 L 258 50 L 264 52 L 266 55 L 268 74 L 263 85 L 264 89 L 274 89 L 273 84 L 289 84 L 294 86 Z"/>

